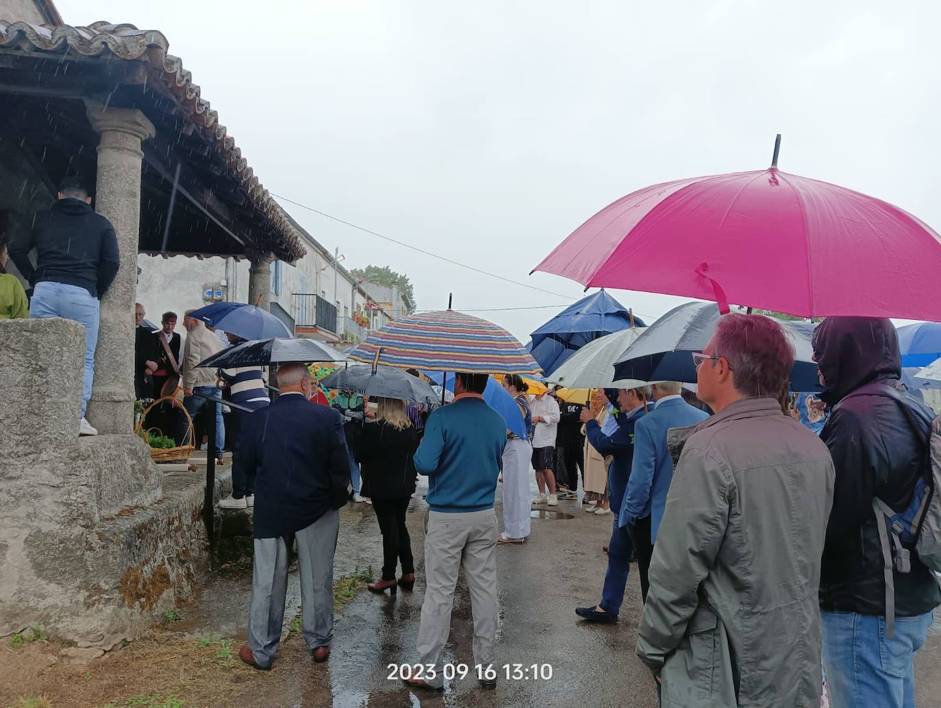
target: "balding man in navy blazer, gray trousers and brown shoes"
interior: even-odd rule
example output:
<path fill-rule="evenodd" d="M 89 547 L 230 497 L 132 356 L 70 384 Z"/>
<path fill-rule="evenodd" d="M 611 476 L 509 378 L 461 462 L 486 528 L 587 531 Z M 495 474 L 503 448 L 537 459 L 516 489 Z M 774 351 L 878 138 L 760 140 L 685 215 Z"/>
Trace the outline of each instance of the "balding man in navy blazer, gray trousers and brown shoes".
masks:
<path fill-rule="evenodd" d="M 246 416 L 240 451 L 255 479 L 255 557 L 248 643 L 239 657 L 270 669 L 281 636 L 290 549 L 297 542 L 304 641 L 327 661 L 333 638 L 333 554 L 350 479 L 343 417 L 311 403 L 302 364 L 278 371 L 280 396 Z"/>

